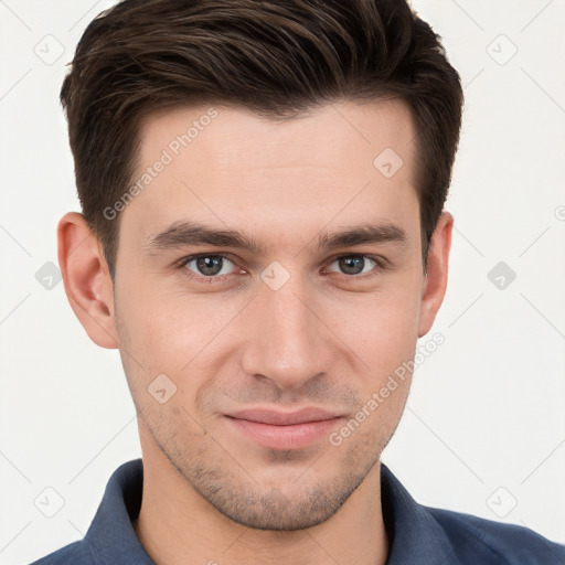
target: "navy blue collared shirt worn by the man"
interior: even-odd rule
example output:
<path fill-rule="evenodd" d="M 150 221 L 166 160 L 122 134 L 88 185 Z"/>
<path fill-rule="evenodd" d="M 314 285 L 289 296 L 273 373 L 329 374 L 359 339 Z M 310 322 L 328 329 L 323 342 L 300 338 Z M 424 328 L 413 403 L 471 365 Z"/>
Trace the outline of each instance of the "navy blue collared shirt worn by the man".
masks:
<path fill-rule="evenodd" d="M 418 504 L 385 465 L 381 469 L 386 565 L 565 564 L 565 545 L 526 527 Z M 118 467 L 85 537 L 32 565 L 154 565 L 131 525 L 142 484 L 141 459 Z"/>

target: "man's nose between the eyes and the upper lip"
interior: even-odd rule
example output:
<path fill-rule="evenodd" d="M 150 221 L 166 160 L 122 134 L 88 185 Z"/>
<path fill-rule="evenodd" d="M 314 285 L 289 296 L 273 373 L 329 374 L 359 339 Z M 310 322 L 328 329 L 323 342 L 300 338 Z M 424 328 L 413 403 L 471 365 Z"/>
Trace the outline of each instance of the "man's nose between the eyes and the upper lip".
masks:
<path fill-rule="evenodd" d="M 328 374 L 337 354 L 323 306 L 291 277 L 281 288 L 259 289 L 246 310 L 243 370 L 280 391 L 298 390 Z M 294 280 L 295 279 L 295 280 Z"/>

